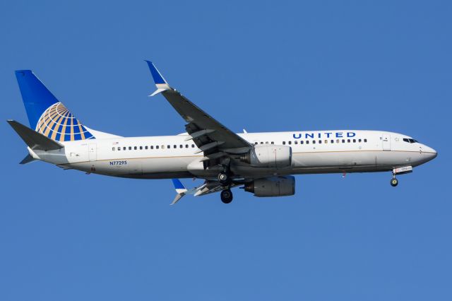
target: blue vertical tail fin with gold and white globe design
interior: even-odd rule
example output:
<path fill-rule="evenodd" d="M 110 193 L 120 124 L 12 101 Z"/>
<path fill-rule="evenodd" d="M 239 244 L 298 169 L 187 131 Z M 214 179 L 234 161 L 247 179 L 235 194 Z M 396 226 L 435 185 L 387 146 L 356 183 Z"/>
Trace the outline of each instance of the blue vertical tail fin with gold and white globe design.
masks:
<path fill-rule="evenodd" d="M 30 127 L 55 141 L 95 138 L 31 70 L 16 71 Z"/>

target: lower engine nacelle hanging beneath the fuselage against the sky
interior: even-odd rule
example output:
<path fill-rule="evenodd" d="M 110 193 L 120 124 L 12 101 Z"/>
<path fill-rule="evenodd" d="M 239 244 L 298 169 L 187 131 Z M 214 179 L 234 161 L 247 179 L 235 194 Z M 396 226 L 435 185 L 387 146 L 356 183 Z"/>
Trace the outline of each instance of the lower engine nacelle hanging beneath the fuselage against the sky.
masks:
<path fill-rule="evenodd" d="M 268 177 L 256 179 L 245 184 L 245 191 L 254 196 L 293 196 L 295 194 L 295 177 Z"/>

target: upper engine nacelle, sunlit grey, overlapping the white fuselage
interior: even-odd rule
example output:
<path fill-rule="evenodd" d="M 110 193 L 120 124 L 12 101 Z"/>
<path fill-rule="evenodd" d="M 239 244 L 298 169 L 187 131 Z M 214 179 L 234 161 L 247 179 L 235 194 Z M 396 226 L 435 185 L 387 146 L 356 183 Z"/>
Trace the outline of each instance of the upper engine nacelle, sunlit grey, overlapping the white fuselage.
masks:
<path fill-rule="evenodd" d="M 292 165 L 292 148 L 290 146 L 256 145 L 240 160 L 258 167 L 283 168 Z"/>

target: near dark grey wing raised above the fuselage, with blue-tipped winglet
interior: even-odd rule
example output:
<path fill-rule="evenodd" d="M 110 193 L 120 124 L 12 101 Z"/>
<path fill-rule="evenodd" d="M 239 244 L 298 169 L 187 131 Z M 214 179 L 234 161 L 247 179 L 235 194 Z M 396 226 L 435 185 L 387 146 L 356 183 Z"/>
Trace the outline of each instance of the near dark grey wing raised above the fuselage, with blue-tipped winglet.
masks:
<path fill-rule="evenodd" d="M 154 64 L 151 61 L 147 62 L 157 86 L 157 90 L 150 96 L 162 93 L 169 104 L 188 122 L 185 129 L 191 137 L 187 140 L 193 140 L 204 153 L 206 157 L 202 160 L 221 158 L 228 152 L 244 153 L 251 148 L 248 141 L 227 129 L 184 95 L 171 88 Z"/>

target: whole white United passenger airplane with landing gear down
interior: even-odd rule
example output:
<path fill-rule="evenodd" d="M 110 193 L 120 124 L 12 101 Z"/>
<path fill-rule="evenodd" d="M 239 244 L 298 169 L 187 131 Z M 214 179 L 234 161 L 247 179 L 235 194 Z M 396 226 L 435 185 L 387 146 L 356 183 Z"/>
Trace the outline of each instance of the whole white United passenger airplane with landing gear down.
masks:
<path fill-rule="evenodd" d="M 331 130 L 234 133 L 172 88 L 146 61 L 156 90 L 185 120 L 184 134 L 122 137 L 82 124 L 30 70 L 16 71 L 30 128 L 8 123 L 23 139 L 28 155 L 64 170 L 133 179 L 172 179 L 177 195 L 220 192 L 232 201 L 234 187 L 258 197 L 292 196 L 300 174 L 412 172 L 436 158 L 436 151 L 410 136 L 388 131 Z M 186 189 L 181 178 L 203 179 Z"/>

